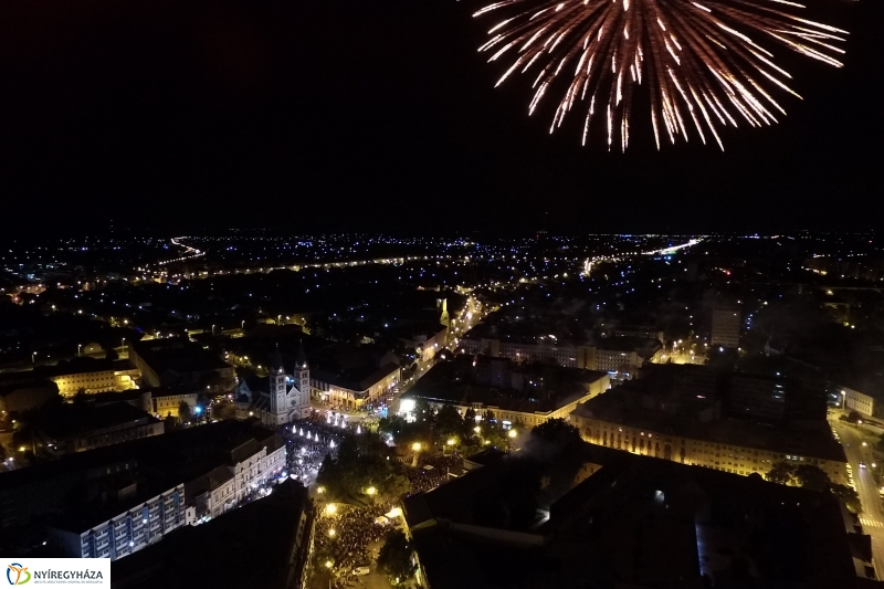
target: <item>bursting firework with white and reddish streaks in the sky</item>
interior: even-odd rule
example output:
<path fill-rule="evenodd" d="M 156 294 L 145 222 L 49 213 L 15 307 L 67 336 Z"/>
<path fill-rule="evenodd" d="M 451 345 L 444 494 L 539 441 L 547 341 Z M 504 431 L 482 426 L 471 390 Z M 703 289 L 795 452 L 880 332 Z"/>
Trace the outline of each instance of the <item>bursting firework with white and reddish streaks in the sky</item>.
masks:
<path fill-rule="evenodd" d="M 478 17 L 530 0 L 503 0 L 476 12 Z M 576 103 L 589 98 L 583 125 L 601 109 L 608 120 L 608 147 L 619 136 L 629 144 L 633 91 L 649 81 L 651 122 L 660 149 L 661 128 L 672 143 L 693 123 L 706 143 L 711 133 L 724 149 L 717 126 L 776 123 L 772 111 L 786 112 L 762 82 L 794 96 L 772 53 L 749 34 L 758 34 L 789 50 L 841 67 L 833 43 L 845 31 L 796 17 L 777 4 L 804 8 L 786 0 L 566 0 L 543 2 L 504 20 L 480 51 L 494 51 L 488 61 L 515 52 L 515 63 L 497 82 L 533 66 L 540 72 L 530 113 L 550 84 L 572 76 L 552 117 L 550 133 L 561 125 Z M 776 8 L 774 8 L 776 7 Z M 800 98 L 800 96 L 798 96 Z"/>

